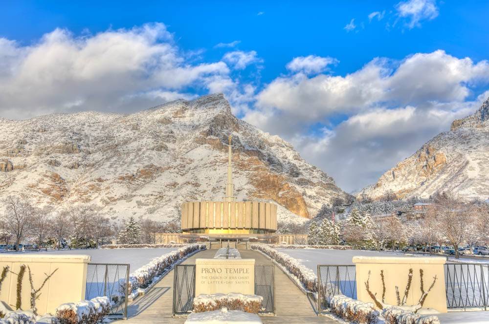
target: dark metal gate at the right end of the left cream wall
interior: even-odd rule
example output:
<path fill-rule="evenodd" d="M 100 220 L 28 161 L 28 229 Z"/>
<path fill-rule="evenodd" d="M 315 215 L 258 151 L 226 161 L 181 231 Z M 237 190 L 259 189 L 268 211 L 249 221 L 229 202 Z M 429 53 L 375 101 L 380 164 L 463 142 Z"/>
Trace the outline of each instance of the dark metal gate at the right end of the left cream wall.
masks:
<path fill-rule="evenodd" d="M 106 296 L 112 303 L 111 316 L 127 318 L 129 264 L 89 263 L 85 299 Z"/>

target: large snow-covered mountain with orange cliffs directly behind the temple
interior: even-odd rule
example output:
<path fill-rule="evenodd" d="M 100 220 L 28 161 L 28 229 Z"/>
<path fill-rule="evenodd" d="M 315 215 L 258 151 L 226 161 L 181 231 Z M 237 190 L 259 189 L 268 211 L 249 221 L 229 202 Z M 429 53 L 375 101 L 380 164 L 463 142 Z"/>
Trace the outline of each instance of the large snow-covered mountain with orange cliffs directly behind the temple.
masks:
<path fill-rule="evenodd" d="M 130 115 L 0 118 L 0 198 L 170 220 L 184 201 L 223 198 L 230 133 L 239 199 L 273 200 L 280 218 L 301 220 L 346 197 L 289 143 L 236 118 L 215 94 Z"/>

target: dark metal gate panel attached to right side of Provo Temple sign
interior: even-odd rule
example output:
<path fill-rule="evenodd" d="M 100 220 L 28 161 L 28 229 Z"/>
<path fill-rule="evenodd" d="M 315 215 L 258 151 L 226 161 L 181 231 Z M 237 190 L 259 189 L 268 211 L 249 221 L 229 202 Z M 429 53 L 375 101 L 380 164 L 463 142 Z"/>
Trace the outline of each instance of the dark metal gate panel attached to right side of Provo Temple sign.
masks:
<path fill-rule="evenodd" d="M 255 295 L 262 296 L 261 314 L 275 314 L 275 266 L 255 265 Z"/>

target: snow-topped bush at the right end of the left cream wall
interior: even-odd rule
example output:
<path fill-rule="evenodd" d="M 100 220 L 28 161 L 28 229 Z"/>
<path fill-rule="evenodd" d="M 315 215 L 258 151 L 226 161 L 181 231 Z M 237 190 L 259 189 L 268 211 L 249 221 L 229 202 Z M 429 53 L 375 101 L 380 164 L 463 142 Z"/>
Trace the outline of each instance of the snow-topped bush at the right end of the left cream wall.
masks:
<path fill-rule="evenodd" d="M 110 308 L 111 302 L 105 296 L 67 302 L 56 308 L 55 318 L 59 324 L 97 324 L 109 314 Z"/>

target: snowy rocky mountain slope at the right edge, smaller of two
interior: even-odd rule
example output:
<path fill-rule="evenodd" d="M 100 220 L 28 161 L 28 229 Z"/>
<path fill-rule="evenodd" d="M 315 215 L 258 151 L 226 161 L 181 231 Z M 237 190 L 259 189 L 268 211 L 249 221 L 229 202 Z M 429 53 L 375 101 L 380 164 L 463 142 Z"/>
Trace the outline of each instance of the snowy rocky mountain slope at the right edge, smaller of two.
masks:
<path fill-rule="evenodd" d="M 359 195 L 378 199 L 428 197 L 451 192 L 461 198 L 489 197 L 489 99 L 473 115 L 453 121 L 413 155 L 384 173 Z"/>

